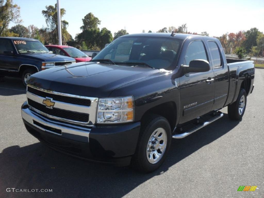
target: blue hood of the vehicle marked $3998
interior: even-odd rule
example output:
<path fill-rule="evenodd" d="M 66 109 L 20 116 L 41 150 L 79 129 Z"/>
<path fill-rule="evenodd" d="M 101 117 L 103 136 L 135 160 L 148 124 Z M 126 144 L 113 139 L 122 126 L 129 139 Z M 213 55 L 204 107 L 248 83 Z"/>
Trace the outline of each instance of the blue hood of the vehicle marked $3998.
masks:
<path fill-rule="evenodd" d="M 22 57 L 41 60 L 45 62 L 74 61 L 74 58 L 50 53 L 27 53 L 21 54 Z"/>

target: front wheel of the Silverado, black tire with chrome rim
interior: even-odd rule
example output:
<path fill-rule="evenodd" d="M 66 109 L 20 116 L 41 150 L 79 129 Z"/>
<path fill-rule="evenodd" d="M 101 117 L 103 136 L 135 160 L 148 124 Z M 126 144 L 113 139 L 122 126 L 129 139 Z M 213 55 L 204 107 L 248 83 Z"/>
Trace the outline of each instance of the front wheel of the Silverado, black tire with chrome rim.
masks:
<path fill-rule="evenodd" d="M 141 172 L 152 172 L 164 162 L 171 145 L 171 127 L 166 118 L 150 115 L 142 122 L 139 142 L 131 165 Z"/>

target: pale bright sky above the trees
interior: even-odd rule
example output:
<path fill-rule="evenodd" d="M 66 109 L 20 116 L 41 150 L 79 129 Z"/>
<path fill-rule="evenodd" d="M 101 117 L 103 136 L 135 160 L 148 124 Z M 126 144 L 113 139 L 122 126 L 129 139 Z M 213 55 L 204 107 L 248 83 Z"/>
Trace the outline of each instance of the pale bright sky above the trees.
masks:
<path fill-rule="evenodd" d="M 22 25 L 41 28 L 45 19 L 41 11 L 56 0 L 13 0 L 21 7 Z M 81 32 L 82 18 L 92 12 L 112 34 L 126 29 L 130 34 L 142 30 L 158 31 L 163 27 L 178 27 L 187 23 L 188 31 L 207 31 L 210 36 L 238 32 L 257 27 L 264 31 L 264 1 L 235 0 L 60 0 L 66 10 L 63 20 L 69 22 L 68 31 L 75 37 Z M 15 25 L 10 23 L 10 27 Z"/>

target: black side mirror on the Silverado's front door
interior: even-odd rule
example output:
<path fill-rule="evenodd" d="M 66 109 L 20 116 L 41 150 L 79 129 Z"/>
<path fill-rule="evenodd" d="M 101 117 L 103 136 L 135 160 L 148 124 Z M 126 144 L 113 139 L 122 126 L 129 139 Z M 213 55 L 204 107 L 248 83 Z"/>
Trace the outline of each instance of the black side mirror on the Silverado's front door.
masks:
<path fill-rule="evenodd" d="M 208 72 L 210 65 L 207 60 L 196 59 L 192 60 L 188 65 L 183 65 L 186 73 Z"/>

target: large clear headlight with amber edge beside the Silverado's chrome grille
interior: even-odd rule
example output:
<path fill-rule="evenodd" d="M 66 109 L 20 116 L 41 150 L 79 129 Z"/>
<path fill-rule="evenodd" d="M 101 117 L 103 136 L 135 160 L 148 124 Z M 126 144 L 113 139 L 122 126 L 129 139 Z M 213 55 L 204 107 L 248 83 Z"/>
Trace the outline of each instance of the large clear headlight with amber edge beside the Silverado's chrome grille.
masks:
<path fill-rule="evenodd" d="M 131 122 L 134 118 L 133 97 L 99 99 L 97 123 Z"/>

